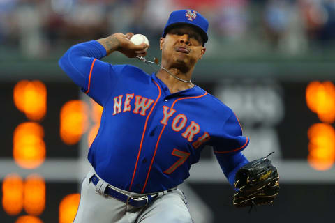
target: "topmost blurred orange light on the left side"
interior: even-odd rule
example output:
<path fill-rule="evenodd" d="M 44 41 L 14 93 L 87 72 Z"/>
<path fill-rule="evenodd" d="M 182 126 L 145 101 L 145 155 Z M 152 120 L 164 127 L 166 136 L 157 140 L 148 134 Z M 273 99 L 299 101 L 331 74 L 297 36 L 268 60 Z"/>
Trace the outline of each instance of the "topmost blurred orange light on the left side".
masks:
<path fill-rule="evenodd" d="M 17 109 L 27 118 L 38 121 L 45 116 L 47 111 L 47 88 L 40 81 L 17 82 L 14 87 L 14 103 Z"/>

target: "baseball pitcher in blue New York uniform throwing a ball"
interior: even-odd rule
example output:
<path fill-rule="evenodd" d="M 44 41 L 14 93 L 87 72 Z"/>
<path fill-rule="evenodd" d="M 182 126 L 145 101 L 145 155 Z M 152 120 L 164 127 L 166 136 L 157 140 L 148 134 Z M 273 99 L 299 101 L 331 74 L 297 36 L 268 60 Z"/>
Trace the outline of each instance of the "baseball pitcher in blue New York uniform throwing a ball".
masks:
<path fill-rule="evenodd" d="M 214 148 L 237 190 L 235 206 L 271 203 L 278 194 L 278 174 L 269 160 L 248 162 L 242 155 L 249 139 L 234 112 L 191 82 L 206 52 L 208 26 L 194 10 L 172 12 L 153 74 L 101 61 L 116 51 L 145 60 L 149 45 L 133 43 L 133 33 L 80 43 L 61 57 L 59 66 L 103 106 L 75 223 L 192 222 L 177 187 L 205 145 Z"/>

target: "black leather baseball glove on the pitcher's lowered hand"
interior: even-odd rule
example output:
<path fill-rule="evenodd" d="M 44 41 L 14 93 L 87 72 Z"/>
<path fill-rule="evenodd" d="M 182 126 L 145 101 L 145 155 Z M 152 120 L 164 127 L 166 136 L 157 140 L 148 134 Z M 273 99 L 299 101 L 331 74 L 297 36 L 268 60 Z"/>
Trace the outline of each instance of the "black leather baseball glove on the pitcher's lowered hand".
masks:
<path fill-rule="evenodd" d="M 278 180 L 277 169 L 267 157 L 245 164 L 235 175 L 234 186 L 239 191 L 234 194 L 233 205 L 240 208 L 274 202 Z"/>

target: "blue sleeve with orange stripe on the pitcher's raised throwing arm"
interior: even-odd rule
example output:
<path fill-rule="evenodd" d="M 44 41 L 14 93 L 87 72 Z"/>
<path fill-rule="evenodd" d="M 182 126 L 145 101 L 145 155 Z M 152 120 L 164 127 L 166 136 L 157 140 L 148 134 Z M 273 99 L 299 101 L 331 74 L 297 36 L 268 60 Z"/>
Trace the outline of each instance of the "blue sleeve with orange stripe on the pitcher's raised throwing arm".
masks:
<path fill-rule="evenodd" d="M 105 48 L 96 40 L 92 40 L 70 47 L 59 59 L 59 66 L 73 82 L 102 106 L 105 105 L 124 68 L 101 61 L 106 54 Z"/>

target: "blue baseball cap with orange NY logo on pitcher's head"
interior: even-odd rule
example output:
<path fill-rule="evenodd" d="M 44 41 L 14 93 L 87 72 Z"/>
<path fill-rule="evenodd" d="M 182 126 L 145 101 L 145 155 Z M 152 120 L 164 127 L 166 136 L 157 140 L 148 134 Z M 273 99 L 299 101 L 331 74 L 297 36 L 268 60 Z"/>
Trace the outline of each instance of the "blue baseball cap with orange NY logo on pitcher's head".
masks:
<path fill-rule="evenodd" d="M 164 27 L 163 37 L 166 36 L 172 26 L 177 24 L 190 24 L 195 26 L 195 28 L 200 31 L 200 35 L 202 36 L 202 45 L 207 42 L 208 21 L 200 13 L 191 9 L 173 11 Z"/>

